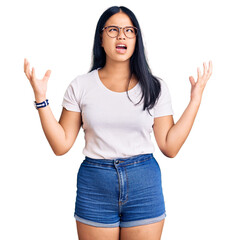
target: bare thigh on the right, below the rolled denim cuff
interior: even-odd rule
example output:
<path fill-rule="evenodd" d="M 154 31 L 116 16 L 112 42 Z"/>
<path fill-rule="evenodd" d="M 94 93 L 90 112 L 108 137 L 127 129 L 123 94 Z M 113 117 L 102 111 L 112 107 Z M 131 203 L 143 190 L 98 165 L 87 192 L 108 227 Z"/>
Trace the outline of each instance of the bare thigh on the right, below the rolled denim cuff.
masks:
<path fill-rule="evenodd" d="M 136 227 L 121 228 L 120 240 L 160 240 L 165 219 Z"/>

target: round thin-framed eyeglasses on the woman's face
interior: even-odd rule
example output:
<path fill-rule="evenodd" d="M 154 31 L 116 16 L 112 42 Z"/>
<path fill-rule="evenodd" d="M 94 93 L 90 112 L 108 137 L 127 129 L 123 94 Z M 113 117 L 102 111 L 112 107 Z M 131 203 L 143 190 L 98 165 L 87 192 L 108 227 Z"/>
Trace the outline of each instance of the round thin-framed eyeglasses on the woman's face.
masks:
<path fill-rule="evenodd" d="M 134 38 L 138 33 L 138 28 L 127 26 L 127 27 L 118 27 L 118 26 L 107 26 L 102 29 L 105 30 L 107 35 L 111 38 L 119 36 L 120 30 L 123 28 L 123 32 L 127 38 Z"/>

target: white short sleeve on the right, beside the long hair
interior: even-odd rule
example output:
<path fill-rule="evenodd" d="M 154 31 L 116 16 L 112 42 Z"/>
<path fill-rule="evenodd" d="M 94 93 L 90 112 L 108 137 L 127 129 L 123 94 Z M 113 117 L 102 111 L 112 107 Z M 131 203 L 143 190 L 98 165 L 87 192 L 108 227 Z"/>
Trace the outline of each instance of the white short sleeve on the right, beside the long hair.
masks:
<path fill-rule="evenodd" d="M 162 79 L 159 82 L 161 83 L 161 93 L 154 105 L 154 118 L 174 114 L 167 84 Z"/>

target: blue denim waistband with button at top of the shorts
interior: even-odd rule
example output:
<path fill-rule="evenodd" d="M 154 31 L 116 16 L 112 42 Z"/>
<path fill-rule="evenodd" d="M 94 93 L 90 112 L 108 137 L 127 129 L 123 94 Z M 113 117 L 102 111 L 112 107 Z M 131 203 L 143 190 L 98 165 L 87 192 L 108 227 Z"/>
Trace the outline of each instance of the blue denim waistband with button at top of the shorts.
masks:
<path fill-rule="evenodd" d="M 153 158 L 153 153 L 146 153 L 146 154 L 139 154 L 139 155 L 135 155 L 132 157 L 128 157 L 128 158 L 115 158 L 115 159 L 95 159 L 95 158 L 90 158 L 88 156 L 85 156 L 85 159 L 83 162 L 90 162 L 90 163 L 94 163 L 94 164 L 100 164 L 100 165 L 107 165 L 107 166 L 111 166 L 115 164 L 130 164 L 130 163 L 139 163 L 142 161 L 146 161 L 148 159 Z"/>

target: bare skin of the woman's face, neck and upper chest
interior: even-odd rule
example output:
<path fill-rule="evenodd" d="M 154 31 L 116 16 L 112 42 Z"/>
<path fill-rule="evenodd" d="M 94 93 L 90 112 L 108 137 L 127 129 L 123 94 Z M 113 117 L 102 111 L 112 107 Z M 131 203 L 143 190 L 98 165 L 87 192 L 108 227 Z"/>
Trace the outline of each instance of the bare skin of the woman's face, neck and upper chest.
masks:
<path fill-rule="evenodd" d="M 115 25 L 119 27 L 134 26 L 130 18 L 123 12 L 111 16 L 106 26 Z M 116 44 L 124 43 L 127 45 L 125 54 L 117 53 Z M 102 33 L 102 44 L 106 52 L 106 64 L 98 70 L 99 77 L 105 86 L 114 89 L 117 92 L 126 91 L 130 80 L 130 58 L 135 49 L 136 38 L 127 38 L 123 30 L 117 38 L 109 37 L 105 31 Z M 134 87 L 138 82 L 136 76 L 131 76 L 130 88 Z"/>

